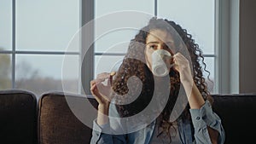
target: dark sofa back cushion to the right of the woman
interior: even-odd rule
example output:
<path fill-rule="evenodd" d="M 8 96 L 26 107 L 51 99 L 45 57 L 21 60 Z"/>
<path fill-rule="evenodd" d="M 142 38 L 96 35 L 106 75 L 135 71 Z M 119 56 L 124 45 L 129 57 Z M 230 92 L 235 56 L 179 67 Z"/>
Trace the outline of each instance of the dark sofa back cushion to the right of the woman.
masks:
<path fill-rule="evenodd" d="M 224 126 L 225 144 L 252 143 L 256 130 L 256 95 L 212 95 L 212 109 Z"/>

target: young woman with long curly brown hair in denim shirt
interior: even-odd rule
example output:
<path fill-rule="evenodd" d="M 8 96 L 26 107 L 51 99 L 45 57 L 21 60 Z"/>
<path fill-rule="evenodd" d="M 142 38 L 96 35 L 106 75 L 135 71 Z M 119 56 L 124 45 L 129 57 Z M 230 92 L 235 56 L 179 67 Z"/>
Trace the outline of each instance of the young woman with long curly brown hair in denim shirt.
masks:
<path fill-rule="evenodd" d="M 162 49 L 172 58 L 163 60 L 167 75 L 156 76 L 153 54 Z M 155 17 L 149 20 L 148 26 L 131 40 L 119 70 L 101 73 L 90 82 L 90 91 L 99 103 L 90 142 L 224 143 L 224 128 L 212 112 L 212 97 L 203 78 L 202 71 L 206 69 L 202 69 L 200 61 L 206 66 L 201 54 L 191 35 L 175 22 Z M 108 84 L 102 84 L 106 79 Z M 187 103 L 179 99 L 183 95 L 181 89 Z M 156 102 L 148 108 L 151 101 Z M 175 107 L 177 101 L 185 104 L 180 106 L 180 114 Z M 172 113 L 178 116 L 173 121 Z"/>

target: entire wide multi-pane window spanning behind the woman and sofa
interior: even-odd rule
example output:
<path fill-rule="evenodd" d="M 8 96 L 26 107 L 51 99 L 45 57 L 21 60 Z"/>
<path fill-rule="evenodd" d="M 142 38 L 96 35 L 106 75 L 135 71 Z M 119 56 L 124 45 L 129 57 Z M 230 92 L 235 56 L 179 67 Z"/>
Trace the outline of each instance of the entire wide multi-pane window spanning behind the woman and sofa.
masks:
<path fill-rule="evenodd" d="M 218 76 L 223 70 L 219 70 L 221 59 L 217 52 L 218 47 L 223 44 L 219 44 L 215 38 L 216 35 L 222 35 L 216 33 L 216 14 L 220 13 L 216 2 L 218 1 L 195 0 L 192 3 L 185 0 L 113 0 L 109 3 L 105 0 L 1 0 L 0 89 L 29 89 L 41 95 L 48 90 L 61 90 L 62 80 L 62 83 L 64 81 L 65 84 L 70 84 L 66 90 L 77 93 L 80 92 L 80 79 L 88 89 L 90 80 L 97 73 L 109 72 L 119 66 L 119 61 L 123 59 L 128 43 L 137 30 L 117 29 L 100 35 L 97 31 L 104 24 L 96 22 L 94 36 L 90 37 L 95 41 L 94 49 L 90 51 L 91 56 L 87 57 L 86 62 L 83 62 L 86 66 L 80 66 L 83 49 L 77 46 L 67 51 L 67 45 L 86 22 L 117 11 L 133 10 L 175 20 L 186 28 L 195 38 L 195 43 L 200 45 L 206 58 L 207 70 L 211 72 L 210 79 L 213 84 L 217 84 L 209 83 L 210 90 L 218 93 L 218 89 L 222 87 L 218 84 Z M 120 21 L 117 19 L 117 22 Z M 148 17 L 126 22 L 141 28 L 147 24 Z M 72 71 L 66 72 L 65 78 L 62 78 L 64 58 L 68 59 L 69 70 Z M 228 75 L 226 72 L 225 76 Z M 223 85 L 228 85 L 227 83 L 228 81 Z"/>

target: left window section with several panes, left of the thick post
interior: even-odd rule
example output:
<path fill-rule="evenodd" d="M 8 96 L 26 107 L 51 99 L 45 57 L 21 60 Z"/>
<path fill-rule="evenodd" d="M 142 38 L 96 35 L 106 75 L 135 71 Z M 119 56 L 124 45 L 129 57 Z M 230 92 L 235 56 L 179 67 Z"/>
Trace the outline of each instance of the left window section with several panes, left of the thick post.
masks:
<path fill-rule="evenodd" d="M 79 31 L 79 7 L 79 0 L 0 2 L 0 89 L 28 89 L 39 96 L 61 90 L 62 80 L 78 91 L 80 49 L 66 49 Z M 72 62 L 65 78 L 64 57 Z"/>

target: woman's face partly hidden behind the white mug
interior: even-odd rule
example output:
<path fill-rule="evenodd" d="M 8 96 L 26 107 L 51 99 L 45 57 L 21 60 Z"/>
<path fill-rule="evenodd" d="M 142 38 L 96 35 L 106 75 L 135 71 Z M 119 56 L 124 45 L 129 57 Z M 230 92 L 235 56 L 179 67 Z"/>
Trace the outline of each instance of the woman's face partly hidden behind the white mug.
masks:
<path fill-rule="evenodd" d="M 145 59 L 147 66 L 151 71 L 152 53 L 157 49 L 165 49 L 173 55 L 170 48 L 174 48 L 174 40 L 171 34 L 162 30 L 152 30 L 149 32 L 148 37 L 146 38 Z"/>

